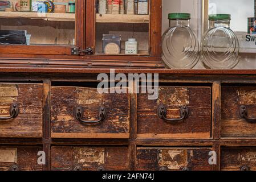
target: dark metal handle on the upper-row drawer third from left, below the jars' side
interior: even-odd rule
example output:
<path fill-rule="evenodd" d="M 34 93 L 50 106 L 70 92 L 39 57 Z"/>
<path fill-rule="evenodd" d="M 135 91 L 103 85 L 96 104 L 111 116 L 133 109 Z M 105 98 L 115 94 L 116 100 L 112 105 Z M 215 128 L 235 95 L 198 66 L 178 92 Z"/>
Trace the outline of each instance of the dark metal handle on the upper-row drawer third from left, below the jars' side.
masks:
<path fill-rule="evenodd" d="M 182 106 L 180 109 L 180 118 L 177 119 L 168 119 L 166 118 L 167 115 L 167 109 L 165 105 L 160 105 L 159 108 L 157 109 L 157 114 L 159 118 L 163 119 L 166 122 L 177 122 L 177 121 L 182 121 L 183 119 L 188 118 L 189 115 L 189 108 L 187 106 Z"/>

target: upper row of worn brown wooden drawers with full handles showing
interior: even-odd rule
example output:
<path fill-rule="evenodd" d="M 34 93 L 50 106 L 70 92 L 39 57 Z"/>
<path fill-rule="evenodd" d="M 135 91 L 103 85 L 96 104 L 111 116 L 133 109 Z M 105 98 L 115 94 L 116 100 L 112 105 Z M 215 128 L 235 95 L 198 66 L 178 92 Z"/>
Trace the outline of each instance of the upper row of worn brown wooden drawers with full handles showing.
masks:
<path fill-rule="evenodd" d="M 100 94 L 96 88 L 52 86 L 52 138 L 129 138 L 136 114 L 139 138 L 210 138 L 212 88 L 160 86 L 159 98 Z M 256 86 L 222 86 L 221 137 L 256 137 Z M 250 118 L 251 117 L 251 118 Z M 43 85 L 0 84 L 0 137 L 43 137 Z"/>

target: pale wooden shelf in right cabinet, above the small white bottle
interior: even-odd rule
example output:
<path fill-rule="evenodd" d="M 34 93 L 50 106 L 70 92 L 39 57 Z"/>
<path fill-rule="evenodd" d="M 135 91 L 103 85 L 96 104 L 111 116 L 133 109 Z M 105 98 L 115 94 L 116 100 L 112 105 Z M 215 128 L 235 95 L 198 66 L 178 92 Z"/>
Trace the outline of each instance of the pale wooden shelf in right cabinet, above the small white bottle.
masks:
<path fill-rule="evenodd" d="M 96 23 L 149 23 L 149 15 L 96 14 Z"/>

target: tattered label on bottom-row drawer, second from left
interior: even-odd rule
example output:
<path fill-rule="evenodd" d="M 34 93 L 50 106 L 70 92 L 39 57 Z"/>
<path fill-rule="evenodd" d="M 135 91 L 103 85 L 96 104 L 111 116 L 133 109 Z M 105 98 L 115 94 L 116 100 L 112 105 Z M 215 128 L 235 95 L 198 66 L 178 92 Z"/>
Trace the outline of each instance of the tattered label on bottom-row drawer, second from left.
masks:
<path fill-rule="evenodd" d="M 97 165 L 104 164 L 104 148 L 78 148 L 75 150 L 74 158 L 83 166 L 90 166 L 91 163 Z"/>

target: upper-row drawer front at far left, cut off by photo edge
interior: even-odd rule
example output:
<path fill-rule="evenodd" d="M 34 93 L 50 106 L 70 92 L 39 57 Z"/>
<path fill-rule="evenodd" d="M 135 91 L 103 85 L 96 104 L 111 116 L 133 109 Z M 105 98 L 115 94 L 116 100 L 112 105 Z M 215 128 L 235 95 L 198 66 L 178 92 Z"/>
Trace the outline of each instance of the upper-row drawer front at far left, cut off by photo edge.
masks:
<path fill-rule="evenodd" d="M 42 138 L 43 85 L 0 84 L 0 118 L 2 138 Z"/>

